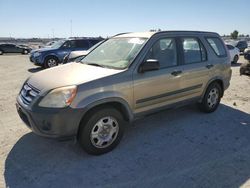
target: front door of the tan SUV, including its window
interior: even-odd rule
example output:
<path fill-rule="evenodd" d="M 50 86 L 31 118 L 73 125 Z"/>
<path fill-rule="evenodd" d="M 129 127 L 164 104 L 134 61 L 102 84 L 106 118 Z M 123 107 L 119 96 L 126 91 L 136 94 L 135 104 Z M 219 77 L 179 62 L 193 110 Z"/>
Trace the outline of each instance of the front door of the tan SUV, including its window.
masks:
<path fill-rule="evenodd" d="M 147 52 L 148 59 L 158 60 L 160 69 L 133 73 L 135 113 L 178 102 L 181 72 L 175 38 L 161 38 Z"/>

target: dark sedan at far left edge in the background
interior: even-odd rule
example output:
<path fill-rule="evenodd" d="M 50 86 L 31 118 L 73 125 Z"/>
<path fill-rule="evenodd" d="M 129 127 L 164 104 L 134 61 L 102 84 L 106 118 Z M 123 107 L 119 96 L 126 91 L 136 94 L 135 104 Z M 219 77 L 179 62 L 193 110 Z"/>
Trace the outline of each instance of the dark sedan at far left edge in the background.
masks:
<path fill-rule="evenodd" d="M 0 44 L 0 55 L 4 53 L 22 53 L 28 54 L 32 49 L 25 45 L 16 45 L 16 44 Z"/>

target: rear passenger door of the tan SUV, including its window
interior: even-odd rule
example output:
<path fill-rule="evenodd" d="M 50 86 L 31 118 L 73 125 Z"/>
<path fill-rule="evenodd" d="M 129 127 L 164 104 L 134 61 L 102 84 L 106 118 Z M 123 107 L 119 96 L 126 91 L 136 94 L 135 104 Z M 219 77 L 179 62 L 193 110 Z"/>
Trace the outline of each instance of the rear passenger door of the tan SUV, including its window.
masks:
<path fill-rule="evenodd" d="M 210 64 L 207 51 L 198 37 L 183 36 L 179 38 L 181 46 L 182 100 L 199 97 L 209 80 Z"/>

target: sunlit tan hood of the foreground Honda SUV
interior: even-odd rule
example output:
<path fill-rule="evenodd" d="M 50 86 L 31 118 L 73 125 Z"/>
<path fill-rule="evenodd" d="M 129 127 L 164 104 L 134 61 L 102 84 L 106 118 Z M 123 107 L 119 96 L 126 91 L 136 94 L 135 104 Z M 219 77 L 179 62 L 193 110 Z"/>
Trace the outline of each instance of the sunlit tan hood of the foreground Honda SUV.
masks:
<path fill-rule="evenodd" d="M 79 85 L 123 71 L 81 63 L 70 63 L 35 73 L 28 79 L 28 83 L 39 89 L 42 94 L 54 88 Z"/>

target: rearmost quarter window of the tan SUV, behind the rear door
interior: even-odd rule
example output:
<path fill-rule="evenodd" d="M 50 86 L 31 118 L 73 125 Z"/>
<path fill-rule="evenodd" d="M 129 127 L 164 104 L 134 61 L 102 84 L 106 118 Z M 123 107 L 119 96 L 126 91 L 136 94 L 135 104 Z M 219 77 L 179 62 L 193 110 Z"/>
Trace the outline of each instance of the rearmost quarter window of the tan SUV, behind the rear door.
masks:
<path fill-rule="evenodd" d="M 217 38 L 217 37 L 209 38 L 208 37 L 207 41 L 208 41 L 209 45 L 213 48 L 213 50 L 217 56 L 219 56 L 219 57 L 226 57 L 227 56 L 226 49 L 225 49 L 222 41 L 219 38 Z"/>

